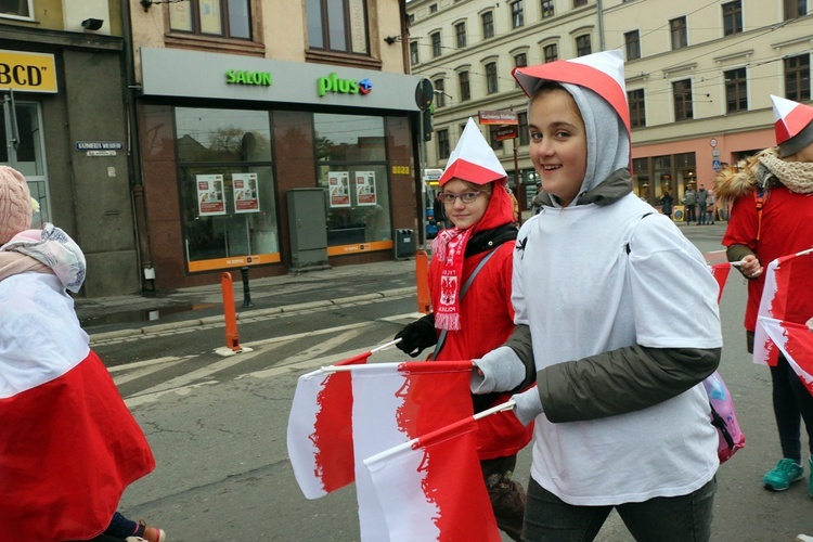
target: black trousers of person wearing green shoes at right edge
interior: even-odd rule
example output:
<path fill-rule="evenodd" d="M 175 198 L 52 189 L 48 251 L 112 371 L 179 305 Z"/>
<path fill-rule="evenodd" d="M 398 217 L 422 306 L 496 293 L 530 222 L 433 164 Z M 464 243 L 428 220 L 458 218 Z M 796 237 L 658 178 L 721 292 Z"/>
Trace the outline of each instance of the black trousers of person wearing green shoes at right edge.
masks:
<path fill-rule="evenodd" d="M 802 420 L 808 429 L 808 446 L 813 454 L 813 396 L 783 356 L 779 356 L 776 366 L 771 367 L 771 383 L 782 455 L 800 463 Z"/>

